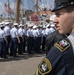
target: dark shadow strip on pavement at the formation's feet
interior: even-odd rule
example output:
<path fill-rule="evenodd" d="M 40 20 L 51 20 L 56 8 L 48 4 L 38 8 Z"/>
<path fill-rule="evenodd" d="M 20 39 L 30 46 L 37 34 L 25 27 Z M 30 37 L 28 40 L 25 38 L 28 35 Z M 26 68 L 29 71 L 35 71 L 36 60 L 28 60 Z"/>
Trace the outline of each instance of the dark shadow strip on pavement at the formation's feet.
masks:
<path fill-rule="evenodd" d="M 29 59 L 29 58 L 34 58 L 34 57 L 45 57 L 45 54 L 27 54 L 24 53 L 22 55 L 17 55 L 17 57 L 12 57 L 12 56 L 8 56 L 8 58 L 0 58 L 0 62 L 8 62 L 8 61 L 20 61 L 23 59 Z"/>

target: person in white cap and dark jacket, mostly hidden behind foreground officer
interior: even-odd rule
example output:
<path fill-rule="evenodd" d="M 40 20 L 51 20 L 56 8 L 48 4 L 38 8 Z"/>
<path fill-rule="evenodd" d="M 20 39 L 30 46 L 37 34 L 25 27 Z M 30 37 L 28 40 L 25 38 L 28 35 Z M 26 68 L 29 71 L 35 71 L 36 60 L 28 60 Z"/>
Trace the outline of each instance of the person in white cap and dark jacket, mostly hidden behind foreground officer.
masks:
<path fill-rule="evenodd" d="M 56 42 L 58 42 L 58 41 L 60 41 L 60 40 L 62 40 L 62 39 L 64 39 L 64 38 L 67 37 L 67 35 L 65 35 L 65 34 L 60 34 L 60 33 L 58 32 L 58 29 L 57 29 L 57 27 L 55 26 L 55 23 L 53 22 L 53 20 L 55 19 L 55 17 L 56 17 L 55 14 L 52 14 L 52 15 L 50 16 L 50 22 L 52 22 L 51 25 L 53 25 L 55 31 L 52 32 L 51 34 L 49 34 L 49 35 L 46 37 L 45 48 L 44 48 L 46 54 L 47 54 L 47 52 L 51 49 L 51 47 L 52 47 Z"/>

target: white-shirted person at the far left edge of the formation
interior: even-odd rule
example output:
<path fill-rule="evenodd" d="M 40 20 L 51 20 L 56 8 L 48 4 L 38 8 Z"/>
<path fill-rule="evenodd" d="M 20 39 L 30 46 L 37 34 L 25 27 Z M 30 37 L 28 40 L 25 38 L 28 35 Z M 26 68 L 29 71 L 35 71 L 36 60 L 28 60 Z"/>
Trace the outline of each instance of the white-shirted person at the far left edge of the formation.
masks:
<path fill-rule="evenodd" d="M 6 56 L 6 45 L 7 44 L 8 44 L 8 41 L 5 37 L 4 26 L 3 24 L 0 24 L 0 57 L 1 58 L 7 58 Z"/>

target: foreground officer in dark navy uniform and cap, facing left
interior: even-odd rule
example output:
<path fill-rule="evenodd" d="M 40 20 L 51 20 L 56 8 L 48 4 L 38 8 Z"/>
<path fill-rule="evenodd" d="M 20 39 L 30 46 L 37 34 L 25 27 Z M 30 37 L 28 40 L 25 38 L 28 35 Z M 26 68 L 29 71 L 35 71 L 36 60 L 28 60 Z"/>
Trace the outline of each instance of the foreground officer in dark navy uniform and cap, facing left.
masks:
<path fill-rule="evenodd" d="M 55 0 L 54 3 L 53 22 L 59 33 L 70 35 L 54 44 L 35 75 L 74 75 L 74 0 Z"/>

